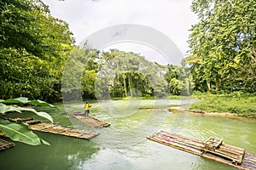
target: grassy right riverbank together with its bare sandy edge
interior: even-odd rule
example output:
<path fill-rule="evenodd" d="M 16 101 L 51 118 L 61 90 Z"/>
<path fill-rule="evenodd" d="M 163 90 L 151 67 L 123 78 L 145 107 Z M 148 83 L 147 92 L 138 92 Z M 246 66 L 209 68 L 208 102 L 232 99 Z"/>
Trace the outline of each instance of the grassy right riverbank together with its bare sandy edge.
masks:
<path fill-rule="evenodd" d="M 171 107 L 170 110 L 177 112 L 181 109 L 194 115 L 256 118 L 255 94 L 200 94 L 192 98 L 199 100 L 183 108 Z"/>

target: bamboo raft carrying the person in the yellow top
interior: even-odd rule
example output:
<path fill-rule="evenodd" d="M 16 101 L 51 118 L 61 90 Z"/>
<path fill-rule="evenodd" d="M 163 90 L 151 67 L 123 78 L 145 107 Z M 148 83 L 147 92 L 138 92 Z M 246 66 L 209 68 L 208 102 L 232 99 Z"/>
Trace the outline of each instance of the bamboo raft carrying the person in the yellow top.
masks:
<path fill-rule="evenodd" d="M 79 119 L 79 121 L 84 122 L 84 124 L 90 127 L 102 128 L 110 126 L 108 122 L 102 122 L 94 116 L 85 116 L 83 111 L 69 111 L 68 114 L 74 116 Z"/>

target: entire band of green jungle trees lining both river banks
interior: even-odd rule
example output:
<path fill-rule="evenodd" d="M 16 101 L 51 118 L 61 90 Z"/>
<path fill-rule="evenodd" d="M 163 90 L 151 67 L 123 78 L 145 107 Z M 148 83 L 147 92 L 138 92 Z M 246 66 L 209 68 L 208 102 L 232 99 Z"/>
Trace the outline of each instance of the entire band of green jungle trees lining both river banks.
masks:
<path fill-rule="evenodd" d="M 61 92 L 71 100 L 77 94 L 108 99 L 193 91 L 254 93 L 255 2 L 195 0 L 191 7 L 199 22 L 190 30 L 190 55 L 177 66 L 118 49 L 78 48 L 67 23 L 52 17 L 40 0 L 3 0 L 1 99 L 26 96 L 53 102 L 61 100 Z"/>

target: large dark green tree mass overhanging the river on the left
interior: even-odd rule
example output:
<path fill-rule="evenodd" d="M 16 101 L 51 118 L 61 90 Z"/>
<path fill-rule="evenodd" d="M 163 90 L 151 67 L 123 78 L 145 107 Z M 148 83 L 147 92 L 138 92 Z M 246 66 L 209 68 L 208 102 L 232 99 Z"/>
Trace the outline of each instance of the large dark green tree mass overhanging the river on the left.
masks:
<path fill-rule="evenodd" d="M 2 99 L 59 99 L 61 74 L 73 44 L 67 23 L 50 16 L 40 0 L 3 0 L 0 10 Z"/>

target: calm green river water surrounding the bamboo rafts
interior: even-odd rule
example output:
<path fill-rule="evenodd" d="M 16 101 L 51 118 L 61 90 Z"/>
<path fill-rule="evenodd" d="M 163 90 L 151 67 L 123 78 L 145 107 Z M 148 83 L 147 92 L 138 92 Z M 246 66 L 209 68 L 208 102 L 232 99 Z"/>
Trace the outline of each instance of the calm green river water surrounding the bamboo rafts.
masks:
<path fill-rule="evenodd" d="M 234 169 L 146 139 L 160 129 L 201 140 L 214 136 L 224 139 L 226 144 L 256 153 L 255 119 L 193 116 L 168 110 L 169 106 L 188 105 L 191 102 L 170 99 L 92 102 L 90 114 L 111 123 L 110 127 L 100 129 L 87 127 L 67 115 L 66 111 L 83 110 L 81 103 L 58 104 L 58 110 L 39 107 L 38 110 L 49 112 L 56 124 L 99 132 L 100 135 L 86 140 L 35 132 L 51 146 L 31 146 L 15 142 L 14 148 L 0 153 L 0 169 Z M 32 113 L 22 113 L 19 116 L 38 118 Z"/>

